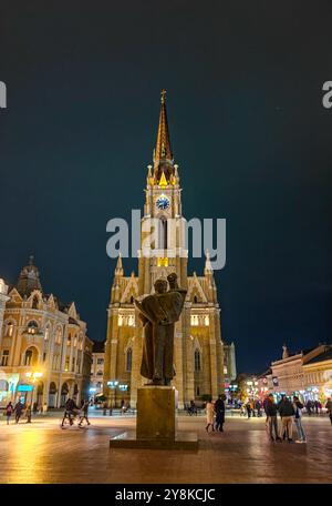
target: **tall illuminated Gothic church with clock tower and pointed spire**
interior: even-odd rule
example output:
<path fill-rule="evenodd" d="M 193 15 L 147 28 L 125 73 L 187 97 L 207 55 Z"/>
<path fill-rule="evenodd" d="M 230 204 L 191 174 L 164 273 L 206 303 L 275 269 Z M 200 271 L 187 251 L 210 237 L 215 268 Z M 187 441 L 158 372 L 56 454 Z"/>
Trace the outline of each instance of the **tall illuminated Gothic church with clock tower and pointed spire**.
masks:
<path fill-rule="evenodd" d="M 190 399 L 206 395 L 216 398 L 225 388 L 217 286 L 208 255 L 204 274 L 194 272 L 188 276 L 188 252 L 181 229 L 181 194 L 178 165 L 170 149 L 163 91 L 154 160 L 153 165 L 148 165 L 146 178 L 138 275 L 132 273 L 126 276 L 118 257 L 107 310 L 104 393 L 113 405 L 125 397 L 135 406 L 137 387 L 145 382 L 139 374 L 143 328 L 133 301 L 153 293 L 154 282 L 172 272 L 177 273 L 179 286 L 187 289 L 185 307 L 175 331 L 176 376 L 173 385 L 178 391 L 178 405 L 181 407 Z M 152 224 L 152 219 L 156 219 L 157 224 Z M 168 227 L 168 219 L 175 223 L 172 229 Z M 159 233 L 148 242 L 153 227 L 158 227 Z M 126 385 L 126 391 L 117 392 L 114 382 L 123 385 L 123 391 Z"/>

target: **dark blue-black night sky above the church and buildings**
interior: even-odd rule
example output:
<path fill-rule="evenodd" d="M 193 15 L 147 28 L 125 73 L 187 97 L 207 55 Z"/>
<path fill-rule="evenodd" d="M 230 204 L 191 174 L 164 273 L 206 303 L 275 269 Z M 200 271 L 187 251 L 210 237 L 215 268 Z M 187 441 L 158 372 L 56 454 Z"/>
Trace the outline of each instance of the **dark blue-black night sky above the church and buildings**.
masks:
<path fill-rule="evenodd" d="M 331 1 L 3 3 L 0 277 L 34 254 L 44 292 L 105 338 L 106 222 L 143 208 L 166 88 L 184 214 L 227 219 L 216 280 L 238 370 L 331 343 Z"/>

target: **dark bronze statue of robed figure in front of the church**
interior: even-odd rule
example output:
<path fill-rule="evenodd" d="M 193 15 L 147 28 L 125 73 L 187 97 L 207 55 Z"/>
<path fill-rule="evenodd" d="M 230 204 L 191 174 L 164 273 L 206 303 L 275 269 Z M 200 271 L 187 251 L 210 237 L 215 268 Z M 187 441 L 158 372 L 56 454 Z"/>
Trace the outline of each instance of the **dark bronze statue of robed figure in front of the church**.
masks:
<path fill-rule="evenodd" d="M 177 285 L 177 275 L 155 282 L 155 294 L 135 301 L 144 326 L 141 374 L 153 385 L 169 385 L 174 371 L 174 330 L 184 307 L 186 290 Z"/>

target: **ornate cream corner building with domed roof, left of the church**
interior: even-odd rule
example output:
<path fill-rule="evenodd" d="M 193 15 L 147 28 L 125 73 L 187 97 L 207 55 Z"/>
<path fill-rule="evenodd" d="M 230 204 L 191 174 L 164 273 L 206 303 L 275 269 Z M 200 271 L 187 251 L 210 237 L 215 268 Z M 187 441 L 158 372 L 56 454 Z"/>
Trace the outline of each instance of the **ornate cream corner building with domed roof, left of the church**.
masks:
<path fill-rule="evenodd" d="M 80 402 L 89 393 L 91 362 L 92 342 L 75 304 L 64 305 L 43 292 L 30 257 L 6 301 L 0 406 L 19 397 L 49 407 L 63 406 L 69 396 Z"/>

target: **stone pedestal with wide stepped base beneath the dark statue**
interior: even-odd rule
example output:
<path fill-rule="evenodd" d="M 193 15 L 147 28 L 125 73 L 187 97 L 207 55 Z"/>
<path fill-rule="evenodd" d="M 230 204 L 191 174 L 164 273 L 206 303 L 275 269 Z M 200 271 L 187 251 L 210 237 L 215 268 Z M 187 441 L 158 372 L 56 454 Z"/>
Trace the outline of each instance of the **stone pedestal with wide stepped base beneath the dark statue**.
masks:
<path fill-rule="evenodd" d="M 129 431 L 113 437 L 110 447 L 197 451 L 197 434 L 177 431 L 175 402 L 172 386 L 138 388 L 136 433 Z"/>

